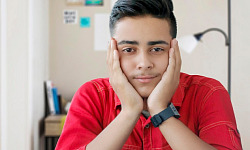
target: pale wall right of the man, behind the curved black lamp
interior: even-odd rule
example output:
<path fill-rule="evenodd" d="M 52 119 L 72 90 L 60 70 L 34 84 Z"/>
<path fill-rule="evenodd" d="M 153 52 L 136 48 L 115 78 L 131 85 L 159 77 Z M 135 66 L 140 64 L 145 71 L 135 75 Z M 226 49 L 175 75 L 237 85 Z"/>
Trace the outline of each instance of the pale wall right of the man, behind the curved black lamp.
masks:
<path fill-rule="evenodd" d="M 227 33 L 227 1 L 173 1 L 179 34 L 184 36 L 211 27 Z M 232 79 L 231 99 L 244 149 L 250 149 L 250 1 L 232 1 Z M 182 71 L 218 79 L 227 88 L 227 47 L 222 34 L 211 32 L 193 53 L 182 51 Z"/>

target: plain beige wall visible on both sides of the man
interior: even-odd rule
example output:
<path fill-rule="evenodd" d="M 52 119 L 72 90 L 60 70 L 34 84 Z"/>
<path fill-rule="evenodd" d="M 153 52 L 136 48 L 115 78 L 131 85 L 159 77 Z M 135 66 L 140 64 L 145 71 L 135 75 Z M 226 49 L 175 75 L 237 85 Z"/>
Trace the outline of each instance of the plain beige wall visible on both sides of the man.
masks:
<path fill-rule="evenodd" d="M 173 0 L 178 37 L 211 27 L 227 33 L 227 0 Z M 70 100 L 84 82 L 107 77 L 106 52 L 94 51 L 94 14 L 109 13 L 110 0 L 103 7 L 67 6 L 65 1 L 50 1 L 50 78 L 59 92 Z M 244 149 L 250 149 L 250 51 L 248 50 L 250 1 L 232 1 L 232 80 L 231 97 Z M 63 24 L 64 9 L 78 10 L 91 17 L 90 28 Z M 227 87 L 227 47 L 222 34 L 210 32 L 192 54 L 182 51 L 182 71 L 219 80 Z M 91 56 L 91 57 L 89 57 Z"/>

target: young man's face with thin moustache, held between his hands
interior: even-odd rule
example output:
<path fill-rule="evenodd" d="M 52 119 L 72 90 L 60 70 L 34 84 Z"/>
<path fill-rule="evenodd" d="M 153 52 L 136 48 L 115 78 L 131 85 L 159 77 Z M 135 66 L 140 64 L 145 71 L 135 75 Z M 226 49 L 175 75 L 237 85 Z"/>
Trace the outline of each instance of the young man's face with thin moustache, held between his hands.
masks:
<path fill-rule="evenodd" d="M 168 67 L 172 37 L 167 20 L 125 17 L 116 24 L 121 69 L 142 97 L 148 97 Z"/>

